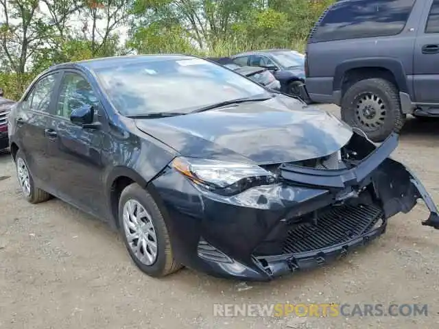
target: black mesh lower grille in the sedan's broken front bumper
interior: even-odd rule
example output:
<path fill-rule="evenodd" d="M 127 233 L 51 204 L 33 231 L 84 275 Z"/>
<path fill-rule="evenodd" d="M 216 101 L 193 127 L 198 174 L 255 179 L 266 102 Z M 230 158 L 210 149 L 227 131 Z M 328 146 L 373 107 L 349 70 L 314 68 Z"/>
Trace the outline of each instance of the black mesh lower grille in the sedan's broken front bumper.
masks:
<path fill-rule="evenodd" d="M 383 217 L 377 205 L 332 206 L 314 223 L 300 223 L 287 232 L 284 254 L 310 252 L 344 243 L 370 231 Z"/>

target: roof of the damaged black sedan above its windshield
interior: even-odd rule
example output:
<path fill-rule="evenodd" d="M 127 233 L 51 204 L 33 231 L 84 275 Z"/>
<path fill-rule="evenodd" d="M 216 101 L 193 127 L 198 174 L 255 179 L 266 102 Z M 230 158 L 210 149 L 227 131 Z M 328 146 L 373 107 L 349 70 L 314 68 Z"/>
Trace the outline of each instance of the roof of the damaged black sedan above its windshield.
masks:
<path fill-rule="evenodd" d="M 91 71 L 95 69 L 107 69 L 121 64 L 136 64 L 144 62 L 164 62 L 167 60 L 189 60 L 194 56 L 179 54 L 157 54 L 157 55 L 129 55 L 129 56 L 113 56 L 104 58 L 93 58 L 91 60 L 81 60 L 78 62 L 67 62 L 51 66 L 48 71 L 55 69 L 69 69 L 72 67 L 83 67 Z"/>

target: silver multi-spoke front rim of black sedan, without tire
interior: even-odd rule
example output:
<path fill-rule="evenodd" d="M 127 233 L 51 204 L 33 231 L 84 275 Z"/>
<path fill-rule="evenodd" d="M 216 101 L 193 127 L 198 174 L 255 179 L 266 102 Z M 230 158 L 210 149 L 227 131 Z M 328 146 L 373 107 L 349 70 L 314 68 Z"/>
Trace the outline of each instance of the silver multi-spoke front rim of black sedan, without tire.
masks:
<path fill-rule="evenodd" d="M 123 205 L 123 229 L 134 256 L 145 265 L 157 259 L 157 236 L 149 212 L 134 199 Z"/>

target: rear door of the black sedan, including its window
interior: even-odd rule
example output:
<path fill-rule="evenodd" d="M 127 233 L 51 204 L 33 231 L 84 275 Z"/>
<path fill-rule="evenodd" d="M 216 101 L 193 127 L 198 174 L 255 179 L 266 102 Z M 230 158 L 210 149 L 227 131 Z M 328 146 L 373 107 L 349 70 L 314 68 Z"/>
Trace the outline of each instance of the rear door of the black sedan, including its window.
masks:
<path fill-rule="evenodd" d="M 60 73 L 51 73 L 38 80 L 16 111 L 16 140 L 25 156 L 36 185 L 47 190 L 51 181 L 47 157 L 46 129 L 54 102 L 54 88 Z"/>

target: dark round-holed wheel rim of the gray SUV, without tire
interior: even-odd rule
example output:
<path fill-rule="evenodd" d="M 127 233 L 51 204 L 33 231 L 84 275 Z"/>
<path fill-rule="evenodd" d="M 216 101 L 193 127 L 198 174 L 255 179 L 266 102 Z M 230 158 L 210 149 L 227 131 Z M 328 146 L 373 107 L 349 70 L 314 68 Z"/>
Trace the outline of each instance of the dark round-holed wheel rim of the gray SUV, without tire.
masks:
<path fill-rule="evenodd" d="M 355 119 L 367 130 L 377 130 L 383 125 L 387 109 L 383 100 L 375 94 L 366 93 L 357 97 Z"/>

